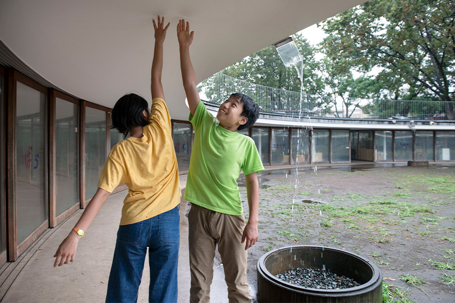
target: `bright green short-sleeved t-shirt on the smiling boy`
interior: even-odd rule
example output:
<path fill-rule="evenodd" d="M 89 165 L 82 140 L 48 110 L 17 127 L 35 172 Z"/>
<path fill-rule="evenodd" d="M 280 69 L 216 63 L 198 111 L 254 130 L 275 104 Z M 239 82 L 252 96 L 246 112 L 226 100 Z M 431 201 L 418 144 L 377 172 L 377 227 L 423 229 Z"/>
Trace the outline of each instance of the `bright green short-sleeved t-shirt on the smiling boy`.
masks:
<path fill-rule="evenodd" d="M 253 139 L 219 126 L 202 102 L 189 120 L 195 137 L 185 199 L 218 213 L 242 215 L 240 171 L 249 175 L 264 170 Z"/>

